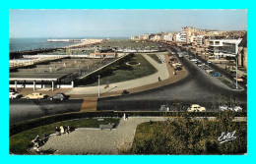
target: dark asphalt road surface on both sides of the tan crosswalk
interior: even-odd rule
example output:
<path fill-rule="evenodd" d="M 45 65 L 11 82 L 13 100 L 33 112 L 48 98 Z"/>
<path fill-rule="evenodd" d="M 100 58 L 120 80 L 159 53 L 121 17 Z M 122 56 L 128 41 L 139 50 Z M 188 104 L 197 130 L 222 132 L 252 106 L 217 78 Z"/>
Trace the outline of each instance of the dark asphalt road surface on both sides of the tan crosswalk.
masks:
<path fill-rule="evenodd" d="M 207 111 L 213 109 L 213 102 L 221 101 L 221 94 L 235 98 L 247 107 L 247 90 L 231 90 L 215 78 L 207 75 L 186 58 L 179 58 L 187 70 L 187 77 L 165 86 L 128 95 L 99 98 L 97 110 L 116 111 L 158 111 L 161 104 L 181 102 L 185 104 L 199 103 Z M 216 100 L 219 97 L 219 100 Z M 221 99 L 221 100 L 220 100 Z M 49 100 L 10 100 L 10 124 L 67 112 L 78 112 L 83 99 L 65 101 Z"/>

